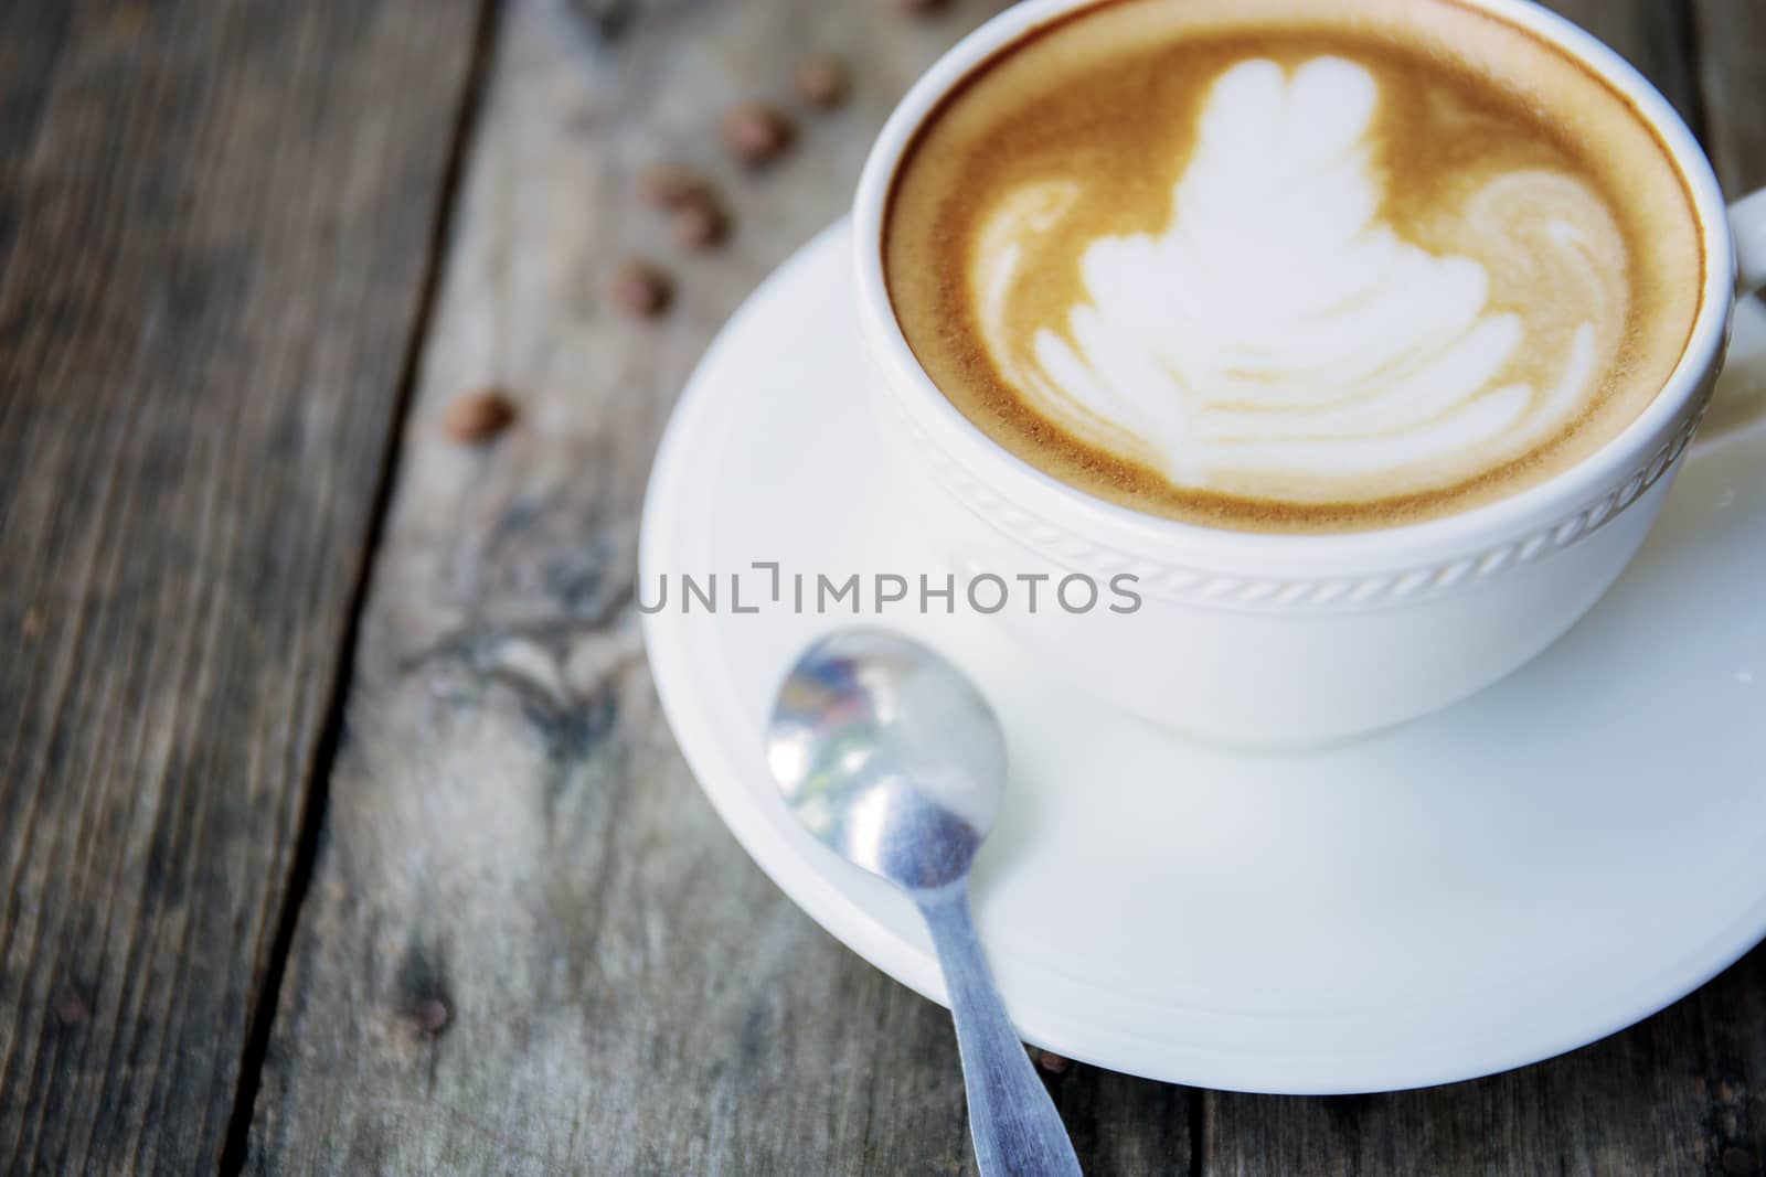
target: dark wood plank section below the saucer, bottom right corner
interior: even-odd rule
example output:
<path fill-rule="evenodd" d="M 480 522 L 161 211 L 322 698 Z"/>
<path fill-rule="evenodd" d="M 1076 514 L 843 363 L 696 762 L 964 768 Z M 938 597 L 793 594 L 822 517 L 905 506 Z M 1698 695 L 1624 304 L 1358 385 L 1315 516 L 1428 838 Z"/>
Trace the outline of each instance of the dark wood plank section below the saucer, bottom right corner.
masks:
<path fill-rule="evenodd" d="M 1540 1066 L 1330 1099 L 1210 1092 L 1206 1173 L 1754 1173 L 1766 949 L 1642 1025 Z"/>

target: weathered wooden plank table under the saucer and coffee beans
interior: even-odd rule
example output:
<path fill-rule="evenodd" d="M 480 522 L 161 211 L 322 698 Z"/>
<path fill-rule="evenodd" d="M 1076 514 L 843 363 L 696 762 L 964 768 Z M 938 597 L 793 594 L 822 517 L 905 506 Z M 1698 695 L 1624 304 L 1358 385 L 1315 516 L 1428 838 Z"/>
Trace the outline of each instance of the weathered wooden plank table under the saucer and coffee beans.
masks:
<path fill-rule="evenodd" d="M 717 822 L 632 589 L 699 351 L 992 7 L 0 5 L 0 1173 L 970 1172 L 947 1015 Z M 1766 182 L 1766 4 L 1558 7 Z M 807 49 L 851 102 L 740 173 Z M 1090 1173 L 1752 1173 L 1766 951 L 1457 1087 L 1049 1087 Z"/>

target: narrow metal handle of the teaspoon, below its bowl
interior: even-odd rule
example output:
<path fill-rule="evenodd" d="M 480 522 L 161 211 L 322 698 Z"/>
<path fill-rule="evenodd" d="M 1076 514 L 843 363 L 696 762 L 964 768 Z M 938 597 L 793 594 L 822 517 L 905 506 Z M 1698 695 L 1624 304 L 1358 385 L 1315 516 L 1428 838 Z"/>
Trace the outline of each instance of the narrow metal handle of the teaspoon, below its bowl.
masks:
<path fill-rule="evenodd" d="M 970 1133 L 982 1177 L 1081 1177 L 1067 1128 L 1005 1016 L 1000 990 L 987 972 L 987 958 L 970 918 L 968 879 L 917 889 L 913 898 L 932 932 L 950 992 L 962 1082 L 970 1096 Z"/>

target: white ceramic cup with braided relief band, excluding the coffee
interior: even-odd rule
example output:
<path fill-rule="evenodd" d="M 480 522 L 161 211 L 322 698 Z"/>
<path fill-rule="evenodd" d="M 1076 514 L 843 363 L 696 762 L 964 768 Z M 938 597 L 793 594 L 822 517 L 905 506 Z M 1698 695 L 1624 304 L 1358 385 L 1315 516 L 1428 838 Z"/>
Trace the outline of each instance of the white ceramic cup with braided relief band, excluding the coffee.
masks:
<path fill-rule="evenodd" d="M 904 510 L 954 570 L 1005 579 L 1130 574 L 1134 612 L 1000 614 L 1065 679 L 1151 720 L 1231 743 L 1312 743 L 1462 699 L 1563 635 L 1655 522 L 1704 413 L 1738 293 L 1766 284 L 1766 191 L 1732 208 L 1674 108 L 1612 49 L 1524 0 L 1471 0 L 1589 65 L 1669 146 L 1692 192 L 1706 289 L 1678 367 L 1621 434 L 1568 471 L 1429 522 L 1259 535 L 1143 515 L 1014 457 L 932 385 L 883 284 L 883 215 L 922 120 L 971 69 L 1097 0 L 1030 0 L 947 53 L 895 108 L 853 205 L 871 394 Z M 925 492 L 920 492 L 924 489 Z"/>

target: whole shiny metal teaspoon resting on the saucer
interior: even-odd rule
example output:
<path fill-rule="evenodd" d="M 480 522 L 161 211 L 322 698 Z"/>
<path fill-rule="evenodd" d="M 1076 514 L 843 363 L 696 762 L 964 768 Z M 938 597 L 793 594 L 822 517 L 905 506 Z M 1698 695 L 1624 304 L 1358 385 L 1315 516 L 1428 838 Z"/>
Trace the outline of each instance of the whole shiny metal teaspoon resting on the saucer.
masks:
<path fill-rule="evenodd" d="M 1005 792 L 1005 741 L 987 701 L 931 649 L 846 630 L 804 651 L 779 688 L 766 761 L 816 838 L 902 888 L 925 918 L 982 1175 L 1079 1177 L 970 918 L 970 863 Z"/>

